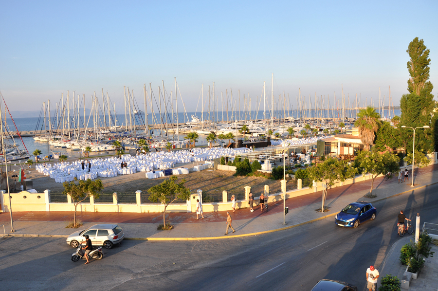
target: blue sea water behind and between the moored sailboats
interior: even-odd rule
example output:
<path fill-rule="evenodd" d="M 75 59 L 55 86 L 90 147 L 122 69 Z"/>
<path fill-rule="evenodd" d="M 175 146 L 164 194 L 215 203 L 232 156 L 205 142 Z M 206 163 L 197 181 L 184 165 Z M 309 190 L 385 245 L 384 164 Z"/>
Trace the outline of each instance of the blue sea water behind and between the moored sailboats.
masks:
<path fill-rule="evenodd" d="M 395 110 L 387 110 L 384 109 L 382 110 L 377 110 L 381 116 L 384 116 L 385 118 L 392 118 L 395 115 L 399 115 L 401 114 L 400 109 L 395 109 Z M 356 114 L 357 114 L 358 110 L 356 109 L 346 109 L 345 112 L 345 116 L 348 118 L 348 120 L 351 119 L 355 119 Z M 237 111 L 237 119 L 238 120 L 262 120 L 263 119 L 263 110 L 259 110 L 259 111 Z M 341 110 L 311 110 L 311 109 L 306 109 L 306 110 L 290 110 L 289 112 L 285 112 L 285 111 L 276 111 L 274 112 L 274 119 L 282 119 L 284 116 L 286 115 L 286 117 L 294 117 L 294 118 L 300 118 L 300 117 L 305 117 L 305 118 L 339 118 L 342 117 L 342 111 Z M 135 124 L 136 125 L 144 125 L 145 124 L 145 115 L 143 112 L 141 112 L 141 114 L 132 114 L 132 116 L 134 117 L 135 120 Z M 188 123 L 189 121 L 192 120 L 192 116 L 197 117 L 199 119 L 204 119 L 204 120 L 215 120 L 216 123 L 221 123 L 222 120 L 224 120 L 226 122 L 226 120 L 236 120 L 236 112 L 231 112 L 229 111 L 228 114 L 227 112 L 203 112 L 203 116 L 201 116 L 200 112 L 187 112 L 187 113 L 179 113 L 178 114 L 178 121 L 180 123 Z M 14 116 L 12 116 L 14 117 Z M 266 118 L 267 119 L 271 119 L 271 113 L 266 111 Z M 125 119 L 125 114 L 117 114 L 117 115 L 111 115 L 110 116 L 111 119 L 111 126 L 114 125 L 114 121 L 116 122 L 117 126 L 121 126 L 121 125 L 125 125 L 126 123 L 126 119 Z M 52 123 L 52 127 L 53 128 L 57 128 L 58 124 L 59 126 L 62 125 L 62 121 L 60 121 L 60 118 L 58 117 L 51 117 L 51 123 Z M 99 124 L 103 125 L 104 124 L 104 116 L 101 115 L 98 117 L 99 120 Z M 129 123 L 129 116 L 127 116 L 127 120 Z M 172 113 L 168 113 L 168 114 L 162 114 L 161 118 L 159 114 L 148 114 L 148 124 L 152 125 L 152 124 L 159 124 L 159 121 L 163 120 L 163 122 L 174 122 L 176 123 L 177 118 L 176 118 L 176 114 L 172 114 Z M 107 125 L 109 125 L 109 120 L 108 120 L 108 116 L 106 116 L 106 122 Z M 86 115 L 85 118 L 85 122 L 84 122 L 84 116 L 80 116 L 79 117 L 79 123 L 80 123 L 80 128 L 84 128 L 85 125 L 87 125 L 88 128 L 92 128 L 92 116 L 91 118 L 89 118 L 88 115 Z M 77 127 L 77 126 L 76 126 Z M 19 118 L 14 118 L 14 120 L 12 120 L 10 118 L 10 116 L 8 116 L 6 118 L 6 128 L 8 131 L 10 132 L 16 132 L 17 130 L 22 132 L 22 131 L 43 131 L 44 130 L 44 117 L 19 117 Z M 48 120 L 46 121 L 46 128 L 49 128 L 48 125 Z M 73 128 L 73 124 L 71 124 L 71 128 Z M 138 131 L 141 132 L 141 131 Z M 159 134 L 159 130 L 155 132 L 155 134 Z M 172 135 L 172 134 L 168 134 L 168 137 L 172 137 L 175 140 L 177 139 L 176 135 Z M 183 139 L 183 134 L 180 135 L 180 140 Z M 53 147 L 51 145 L 49 145 L 47 142 L 38 142 L 35 141 L 32 137 L 22 137 L 21 140 L 20 138 L 15 138 L 14 141 L 10 141 L 10 143 L 14 143 L 18 145 L 18 147 L 20 149 L 27 149 L 27 151 L 32 154 L 33 151 L 35 151 L 36 149 L 41 150 L 41 154 L 43 156 L 46 156 L 48 153 L 52 154 L 53 152 L 61 152 L 62 154 L 65 154 L 69 157 L 76 157 L 79 158 L 80 156 L 80 151 L 73 151 L 71 149 L 67 149 L 67 148 L 59 148 L 59 147 Z M 24 145 L 23 145 L 24 144 Z M 200 136 L 200 139 L 198 141 L 199 145 L 207 145 L 205 136 Z"/>

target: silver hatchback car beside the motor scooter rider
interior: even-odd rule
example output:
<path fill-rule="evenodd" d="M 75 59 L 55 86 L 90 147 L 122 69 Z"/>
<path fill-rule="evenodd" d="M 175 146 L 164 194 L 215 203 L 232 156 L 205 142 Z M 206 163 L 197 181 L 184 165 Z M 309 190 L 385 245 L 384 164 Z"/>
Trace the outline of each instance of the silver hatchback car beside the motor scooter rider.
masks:
<path fill-rule="evenodd" d="M 93 246 L 104 246 L 107 249 L 112 248 L 114 244 L 122 242 L 125 234 L 117 224 L 96 224 L 88 229 L 79 230 L 67 237 L 67 243 L 73 248 L 85 241 L 85 235 L 90 236 Z"/>

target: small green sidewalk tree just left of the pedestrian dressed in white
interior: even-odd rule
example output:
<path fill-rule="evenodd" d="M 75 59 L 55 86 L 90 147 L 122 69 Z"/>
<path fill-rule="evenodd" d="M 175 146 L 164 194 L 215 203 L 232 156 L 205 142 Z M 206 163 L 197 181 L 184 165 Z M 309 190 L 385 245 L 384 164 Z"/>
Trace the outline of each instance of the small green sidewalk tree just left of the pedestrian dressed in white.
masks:
<path fill-rule="evenodd" d="M 166 208 L 169 204 L 177 199 L 189 200 L 190 190 L 184 186 L 185 180 L 177 183 L 178 178 L 176 176 L 170 176 L 169 179 L 164 180 L 158 185 L 150 187 L 149 200 L 152 202 L 160 202 L 164 205 L 163 210 L 163 225 L 166 227 Z"/>

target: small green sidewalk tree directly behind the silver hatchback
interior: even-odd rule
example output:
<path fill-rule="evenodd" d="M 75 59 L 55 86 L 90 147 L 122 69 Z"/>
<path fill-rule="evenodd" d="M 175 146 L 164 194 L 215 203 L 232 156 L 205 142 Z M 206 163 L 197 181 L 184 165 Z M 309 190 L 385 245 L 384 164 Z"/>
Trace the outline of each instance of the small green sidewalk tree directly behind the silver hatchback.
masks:
<path fill-rule="evenodd" d="M 74 205 L 74 216 L 73 216 L 73 227 L 77 228 L 79 225 L 76 224 L 76 208 L 82 201 L 86 200 L 88 197 L 92 196 L 94 199 L 99 198 L 99 193 L 102 191 L 103 184 L 102 180 L 79 180 L 74 182 L 64 182 L 64 191 L 62 194 L 68 195 L 72 198 Z"/>

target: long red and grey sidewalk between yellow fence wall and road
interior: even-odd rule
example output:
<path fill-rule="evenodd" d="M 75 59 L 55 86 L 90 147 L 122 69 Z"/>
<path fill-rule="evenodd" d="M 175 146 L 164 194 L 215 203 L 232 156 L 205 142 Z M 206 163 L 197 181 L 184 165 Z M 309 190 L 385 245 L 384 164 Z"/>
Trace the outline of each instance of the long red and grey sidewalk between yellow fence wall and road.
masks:
<path fill-rule="evenodd" d="M 326 205 L 330 211 L 316 212 L 321 207 L 322 192 L 316 192 L 286 200 L 289 214 L 286 215 L 287 225 L 283 225 L 283 201 L 270 204 L 269 211 L 260 211 L 254 207 L 251 213 L 248 208 L 231 213 L 234 235 L 224 236 L 226 228 L 226 212 L 205 213 L 205 219 L 195 220 L 195 213 L 167 213 L 166 219 L 174 225 L 171 231 L 157 231 L 157 226 L 163 223 L 161 213 L 93 213 L 78 212 L 77 218 L 84 223 L 81 229 L 88 228 L 96 223 L 117 223 L 125 231 L 127 238 L 148 240 L 188 240 L 188 239 L 220 239 L 237 236 L 252 236 L 261 233 L 279 231 L 296 227 L 315 220 L 336 215 L 348 203 L 358 200 L 370 202 L 387 199 L 389 197 L 410 193 L 414 189 L 435 184 L 438 181 L 438 164 L 416 170 L 414 188 L 410 183 L 397 183 L 397 177 L 384 181 L 378 178 L 374 182 L 374 199 L 365 199 L 371 181 L 357 182 L 329 190 Z M 14 236 L 68 236 L 73 230 L 66 229 L 66 221 L 73 219 L 71 212 L 13 212 Z M 0 223 L 10 230 L 9 213 L 0 214 Z"/>

